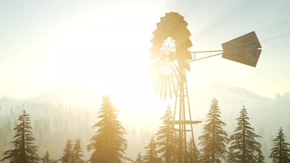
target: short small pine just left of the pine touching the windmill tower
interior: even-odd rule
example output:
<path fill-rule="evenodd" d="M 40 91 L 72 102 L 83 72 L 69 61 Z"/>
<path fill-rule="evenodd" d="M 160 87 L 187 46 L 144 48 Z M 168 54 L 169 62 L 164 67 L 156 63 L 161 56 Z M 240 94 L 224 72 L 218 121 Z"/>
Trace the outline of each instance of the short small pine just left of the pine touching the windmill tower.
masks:
<path fill-rule="evenodd" d="M 143 156 L 143 163 L 160 163 L 160 158 L 157 155 L 157 143 L 155 137 L 152 136 L 150 142 L 145 146 L 145 155 Z"/>

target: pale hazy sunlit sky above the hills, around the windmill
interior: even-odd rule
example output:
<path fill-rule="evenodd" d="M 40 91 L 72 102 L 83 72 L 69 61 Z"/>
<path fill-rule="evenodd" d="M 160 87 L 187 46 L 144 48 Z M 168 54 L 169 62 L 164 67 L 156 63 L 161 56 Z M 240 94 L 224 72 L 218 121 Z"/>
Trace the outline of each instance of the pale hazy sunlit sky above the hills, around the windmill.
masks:
<path fill-rule="evenodd" d="M 148 92 L 152 31 L 173 11 L 188 23 L 191 51 L 221 50 L 251 31 L 262 46 L 256 68 L 221 56 L 192 63 L 189 84 L 221 82 L 274 98 L 290 91 L 289 6 L 289 0 L 0 0 L 0 96 L 27 98 L 74 85 Z"/>

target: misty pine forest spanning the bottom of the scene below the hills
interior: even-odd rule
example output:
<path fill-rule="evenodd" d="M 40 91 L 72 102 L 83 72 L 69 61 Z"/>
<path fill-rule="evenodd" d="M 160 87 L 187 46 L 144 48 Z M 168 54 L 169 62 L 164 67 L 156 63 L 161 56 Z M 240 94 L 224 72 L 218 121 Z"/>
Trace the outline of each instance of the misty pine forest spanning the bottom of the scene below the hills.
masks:
<path fill-rule="evenodd" d="M 287 98 L 286 101 L 283 98 L 277 94 L 275 105 L 288 106 Z M 6 112 L 4 107 L 0 108 L 3 163 L 180 162 L 178 132 L 165 123 L 173 120 L 171 106 L 160 117 L 156 131 L 140 128 L 137 132 L 118 120 L 119 110 L 108 95 L 96 110 L 15 99 L 5 101 L 5 108 L 17 105 Z M 253 120 L 248 116 L 247 106 L 235 110 L 238 116 L 232 118 L 235 123 L 230 132 L 219 106 L 216 98 L 208 103 L 202 134 L 188 140 L 184 163 L 290 163 L 288 129 L 277 128 L 269 148 L 262 141 L 265 129 L 257 132 L 251 125 Z M 133 144 L 134 148 L 128 150 L 134 139 L 140 144 Z"/>

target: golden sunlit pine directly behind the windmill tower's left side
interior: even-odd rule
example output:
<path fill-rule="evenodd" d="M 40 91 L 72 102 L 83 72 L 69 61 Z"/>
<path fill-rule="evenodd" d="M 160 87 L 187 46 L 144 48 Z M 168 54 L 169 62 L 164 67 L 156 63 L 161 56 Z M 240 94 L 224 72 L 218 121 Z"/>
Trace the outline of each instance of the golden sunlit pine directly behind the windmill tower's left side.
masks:
<path fill-rule="evenodd" d="M 165 163 L 174 162 L 174 150 L 177 148 L 177 141 L 174 141 L 174 125 L 168 124 L 166 121 L 173 120 L 171 107 L 168 106 L 165 114 L 160 118 L 163 121 L 163 126 L 159 127 L 156 134 L 158 153 L 162 153 L 161 157 Z"/>

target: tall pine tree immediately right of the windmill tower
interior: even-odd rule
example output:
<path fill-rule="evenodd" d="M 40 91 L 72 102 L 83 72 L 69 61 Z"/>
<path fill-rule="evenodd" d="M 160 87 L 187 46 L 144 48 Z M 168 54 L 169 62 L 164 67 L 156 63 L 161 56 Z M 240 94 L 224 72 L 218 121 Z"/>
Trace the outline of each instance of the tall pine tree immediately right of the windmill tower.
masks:
<path fill-rule="evenodd" d="M 221 111 L 218 106 L 218 100 L 211 101 L 210 109 L 206 114 L 208 118 L 203 125 L 203 135 L 199 137 L 200 144 L 203 146 L 203 160 L 212 163 L 219 163 L 220 158 L 225 159 L 227 154 L 226 143 L 229 139 L 227 133 L 223 130 L 226 123 L 220 120 Z"/>

